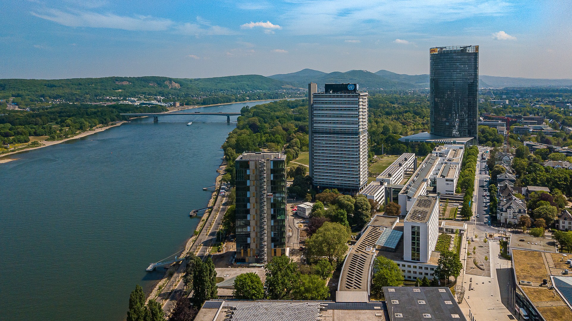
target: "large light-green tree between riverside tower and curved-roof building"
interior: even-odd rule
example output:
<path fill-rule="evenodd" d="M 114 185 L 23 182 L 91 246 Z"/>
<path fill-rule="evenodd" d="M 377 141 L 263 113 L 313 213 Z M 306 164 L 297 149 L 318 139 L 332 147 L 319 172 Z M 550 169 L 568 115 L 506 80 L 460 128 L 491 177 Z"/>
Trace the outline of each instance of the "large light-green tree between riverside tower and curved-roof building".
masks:
<path fill-rule="evenodd" d="M 318 230 L 306 239 L 308 256 L 311 258 L 326 257 L 329 264 L 338 262 L 348 250 L 349 228 L 340 223 L 325 222 Z"/>

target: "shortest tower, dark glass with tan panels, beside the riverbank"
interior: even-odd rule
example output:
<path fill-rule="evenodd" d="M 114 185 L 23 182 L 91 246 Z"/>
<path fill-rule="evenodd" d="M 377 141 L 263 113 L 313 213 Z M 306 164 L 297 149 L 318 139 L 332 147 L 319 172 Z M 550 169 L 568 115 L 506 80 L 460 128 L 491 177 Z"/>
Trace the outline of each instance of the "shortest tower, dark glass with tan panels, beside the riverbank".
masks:
<path fill-rule="evenodd" d="M 236 262 L 267 263 L 286 254 L 286 155 L 236 159 Z"/>

